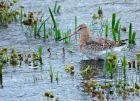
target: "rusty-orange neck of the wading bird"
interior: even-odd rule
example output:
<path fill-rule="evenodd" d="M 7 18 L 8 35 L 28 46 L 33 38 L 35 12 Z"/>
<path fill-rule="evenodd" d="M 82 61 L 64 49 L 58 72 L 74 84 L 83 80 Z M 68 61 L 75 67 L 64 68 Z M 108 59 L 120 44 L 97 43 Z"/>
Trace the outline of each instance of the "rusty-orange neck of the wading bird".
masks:
<path fill-rule="evenodd" d="M 83 29 L 81 36 L 80 36 L 80 45 L 86 43 L 86 41 L 91 37 L 91 32 L 88 28 Z"/>

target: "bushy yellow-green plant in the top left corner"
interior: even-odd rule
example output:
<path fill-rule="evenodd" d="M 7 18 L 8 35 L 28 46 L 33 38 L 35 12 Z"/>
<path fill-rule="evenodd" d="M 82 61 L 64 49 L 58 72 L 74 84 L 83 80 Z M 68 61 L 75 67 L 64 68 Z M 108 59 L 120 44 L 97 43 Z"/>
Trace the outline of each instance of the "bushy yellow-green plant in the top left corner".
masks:
<path fill-rule="evenodd" d="M 17 21 L 18 11 L 12 9 L 18 0 L 0 1 L 0 25 L 8 25 L 12 21 Z"/>

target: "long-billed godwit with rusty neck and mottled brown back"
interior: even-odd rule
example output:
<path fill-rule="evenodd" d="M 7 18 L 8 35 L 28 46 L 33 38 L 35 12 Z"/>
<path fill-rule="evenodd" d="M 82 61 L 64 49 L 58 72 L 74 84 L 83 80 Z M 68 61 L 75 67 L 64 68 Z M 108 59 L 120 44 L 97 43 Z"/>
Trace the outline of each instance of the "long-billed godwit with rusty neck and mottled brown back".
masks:
<path fill-rule="evenodd" d="M 106 51 L 118 51 L 121 50 L 123 44 L 127 40 L 112 41 L 107 40 L 101 37 L 93 37 L 88 26 L 86 24 L 81 24 L 78 26 L 77 31 L 73 34 L 70 34 L 68 37 L 72 35 L 80 34 L 80 50 L 82 53 L 86 54 L 87 57 L 91 59 L 102 59 L 104 58 Z M 64 39 L 64 38 L 63 38 Z"/>

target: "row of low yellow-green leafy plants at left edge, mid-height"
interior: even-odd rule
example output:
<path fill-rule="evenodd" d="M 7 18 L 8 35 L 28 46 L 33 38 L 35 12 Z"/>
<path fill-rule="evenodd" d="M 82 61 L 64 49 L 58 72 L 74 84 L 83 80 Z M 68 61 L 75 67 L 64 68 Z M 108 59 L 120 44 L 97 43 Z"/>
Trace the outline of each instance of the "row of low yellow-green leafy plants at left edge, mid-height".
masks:
<path fill-rule="evenodd" d="M 12 49 L 11 51 L 8 48 L 3 48 L 0 50 L 0 63 L 1 64 L 10 64 L 13 66 L 22 65 L 22 63 L 38 66 L 43 64 L 42 62 L 42 47 L 39 46 L 38 52 L 21 54 Z"/>

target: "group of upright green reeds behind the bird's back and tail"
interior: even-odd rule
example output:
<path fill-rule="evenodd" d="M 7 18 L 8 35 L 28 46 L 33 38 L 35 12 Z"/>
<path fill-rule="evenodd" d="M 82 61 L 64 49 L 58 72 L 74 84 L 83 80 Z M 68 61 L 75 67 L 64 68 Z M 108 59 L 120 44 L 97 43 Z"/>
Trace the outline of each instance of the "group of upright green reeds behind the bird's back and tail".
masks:
<path fill-rule="evenodd" d="M 98 9 L 98 14 L 93 14 L 92 19 L 93 19 L 93 26 L 96 24 L 101 24 L 101 29 L 100 30 L 100 35 L 105 37 L 105 39 L 109 39 L 109 36 L 112 36 L 112 40 L 116 42 L 122 42 L 122 34 L 127 33 L 127 28 L 122 26 L 121 23 L 121 18 L 117 19 L 117 14 L 113 13 L 112 14 L 112 20 L 111 20 L 111 25 L 108 20 L 104 21 L 103 17 L 103 10 L 101 7 Z M 99 20 L 99 23 L 96 22 L 96 20 Z M 128 44 L 130 45 L 135 45 L 135 40 L 136 40 L 136 31 L 132 31 L 132 23 L 130 23 L 128 27 Z M 104 33 L 104 34 L 103 34 Z M 109 35 L 110 34 L 110 35 Z"/>

